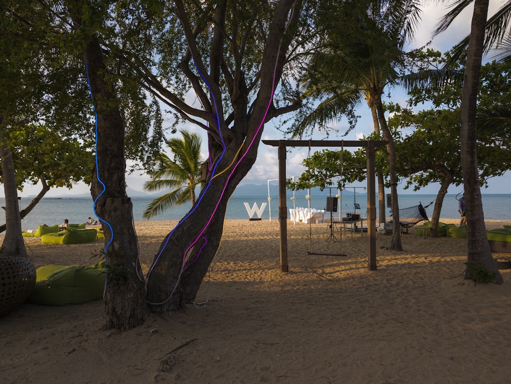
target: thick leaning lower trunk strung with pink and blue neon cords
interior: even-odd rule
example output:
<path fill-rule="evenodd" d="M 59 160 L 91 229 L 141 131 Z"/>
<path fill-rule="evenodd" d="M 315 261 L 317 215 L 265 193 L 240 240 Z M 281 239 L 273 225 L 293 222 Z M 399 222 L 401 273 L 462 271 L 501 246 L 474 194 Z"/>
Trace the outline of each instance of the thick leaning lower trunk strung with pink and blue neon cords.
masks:
<path fill-rule="evenodd" d="M 151 310 L 165 312 L 195 299 L 220 246 L 227 202 L 255 162 L 259 139 L 260 135 L 242 159 L 236 151 L 238 145 L 233 143 L 227 149 L 216 166 L 226 172 L 208 175 L 197 204 L 162 243 L 147 276 Z"/>

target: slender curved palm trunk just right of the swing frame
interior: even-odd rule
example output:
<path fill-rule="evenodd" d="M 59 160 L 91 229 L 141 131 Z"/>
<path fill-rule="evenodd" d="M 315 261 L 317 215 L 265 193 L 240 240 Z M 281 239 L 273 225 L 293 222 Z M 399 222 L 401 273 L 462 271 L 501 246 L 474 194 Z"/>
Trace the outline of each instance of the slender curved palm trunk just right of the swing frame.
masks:
<path fill-rule="evenodd" d="M 382 130 L 383 138 L 387 141 L 387 156 L 390 176 L 390 194 L 392 199 L 392 241 L 390 249 L 402 251 L 401 244 L 401 223 L 399 219 L 399 203 L 398 203 L 398 176 L 396 173 L 396 145 L 394 139 L 387 126 L 381 97 L 375 98 L 376 110 L 378 112 L 378 121 Z"/>

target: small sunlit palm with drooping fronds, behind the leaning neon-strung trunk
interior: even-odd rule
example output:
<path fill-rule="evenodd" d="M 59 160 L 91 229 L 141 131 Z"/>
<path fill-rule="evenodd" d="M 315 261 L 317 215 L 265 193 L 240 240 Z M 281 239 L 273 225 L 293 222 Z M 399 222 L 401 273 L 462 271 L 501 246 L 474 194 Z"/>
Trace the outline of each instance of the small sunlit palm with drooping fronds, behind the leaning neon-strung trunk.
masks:
<path fill-rule="evenodd" d="M 180 131 L 182 139 L 173 137 L 167 141 L 167 146 L 175 155 L 172 160 L 160 152 L 156 158 L 158 163 L 152 180 L 144 184 L 144 189 L 150 192 L 173 188 L 169 193 L 151 201 L 143 213 L 144 219 L 152 219 L 166 209 L 192 202 L 195 205 L 195 188 L 202 185 L 200 147 L 202 139 L 197 133 Z"/>

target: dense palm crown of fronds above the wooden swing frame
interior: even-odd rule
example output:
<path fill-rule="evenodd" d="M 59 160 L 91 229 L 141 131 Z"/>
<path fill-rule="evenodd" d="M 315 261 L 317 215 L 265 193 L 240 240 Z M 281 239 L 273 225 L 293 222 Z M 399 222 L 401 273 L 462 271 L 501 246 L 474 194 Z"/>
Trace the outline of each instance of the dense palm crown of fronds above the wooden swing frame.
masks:
<path fill-rule="evenodd" d="M 320 16 L 326 41 L 311 55 L 307 75 L 301 79 L 304 96 L 317 107 L 297 116 L 290 130 L 295 137 L 315 129 L 328 132 L 328 124 L 341 117 L 349 123 L 347 133 L 357 123 L 356 107 L 365 101 L 375 109 L 384 89 L 398 84 L 406 72 L 403 46 L 413 33 L 419 9 L 406 0 L 333 2 Z"/>

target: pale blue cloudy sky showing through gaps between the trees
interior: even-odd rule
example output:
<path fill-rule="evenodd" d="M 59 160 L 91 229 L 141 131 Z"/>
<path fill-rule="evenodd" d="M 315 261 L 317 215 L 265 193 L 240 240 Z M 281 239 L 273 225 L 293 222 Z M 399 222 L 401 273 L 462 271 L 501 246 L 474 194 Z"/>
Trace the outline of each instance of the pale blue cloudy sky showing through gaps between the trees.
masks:
<path fill-rule="evenodd" d="M 446 13 L 445 6 L 442 4 L 437 4 L 437 2 L 428 2 L 427 6 L 423 8 L 422 21 L 421 25 L 415 34 L 415 41 L 410 43 L 410 49 L 420 47 L 425 45 L 429 40 L 431 40 L 431 31 L 433 30 L 435 24 L 439 20 L 439 18 Z M 501 6 L 500 1 L 490 0 L 490 11 L 489 15 L 492 15 L 497 11 L 497 9 Z M 472 16 L 472 8 L 465 10 L 460 17 L 458 17 L 453 24 L 449 27 L 449 29 L 443 34 L 435 37 L 432 42 L 432 49 L 437 49 L 441 52 L 445 52 L 450 49 L 455 43 L 460 41 L 463 37 L 465 37 L 470 32 L 470 21 Z M 404 104 L 406 101 L 406 94 L 404 93 L 396 93 L 392 92 L 393 101 Z M 364 108 L 365 107 L 365 108 Z M 373 122 L 368 110 L 367 106 L 361 106 L 357 111 L 357 114 L 361 117 L 357 123 L 357 127 L 354 131 L 349 133 L 346 136 L 340 136 L 343 132 L 346 131 L 347 124 L 343 121 L 337 123 L 336 127 L 339 128 L 339 136 L 336 136 L 335 133 L 331 133 L 330 139 L 332 140 L 358 140 L 364 135 L 369 135 L 373 132 Z M 263 132 L 263 139 L 267 140 L 278 140 L 283 139 L 282 132 L 278 131 L 275 128 L 275 123 L 270 122 L 265 125 Z M 179 129 L 186 129 L 191 132 L 198 132 L 203 136 L 203 148 L 206 148 L 206 138 L 204 132 L 199 128 L 191 125 L 185 124 Z M 322 139 L 323 137 L 320 134 L 313 134 L 311 137 L 314 140 Z M 316 150 L 321 150 L 321 148 L 316 148 Z M 312 149 L 312 152 L 314 148 Z M 312 153 L 311 153 L 312 154 Z M 202 156 L 204 158 L 207 157 L 206 153 L 203 153 Z M 304 167 L 301 165 L 303 160 L 308 156 L 308 148 L 295 148 L 288 151 L 287 154 L 287 162 L 286 162 L 286 173 L 287 177 L 299 176 L 304 171 Z M 260 144 L 258 150 L 258 158 L 255 161 L 255 164 L 252 166 L 252 169 L 249 171 L 247 176 L 242 180 L 240 185 L 244 184 L 267 184 L 268 180 L 278 179 L 278 159 L 277 159 L 277 148 L 269 147 Z M 143 190 L 143 184 L 145 181 L 149 180 L 147 175 L 138 175 L 131 174 L 126 175 L 126 183 L 129 188 L 135 190 Z M 507 172 L 504 176 L 492 178 L 489 180 L 489 187 L 483 188 L 481 193 L 483 194 L 508 194 L 509 188 L 511 185 L 511 173 Z M 363 185 L 363 184 L 361 184 Z M 408 190 L 404 190 L 403 186 L 405 185 L 405 181 L 402 181 L 400 186 L 398 187 L 398 193 L 400 194 L 413 194 L 412 188 Z M 40 185 L 31 186 L 26 185 L 23 192 L 19 193 L 20 197 L 28 197 L 31 195 L 36 195 L 39 193 L 41 187 Z M 439 189 L 438 184 L 431 184 L 425 188 L 420 189 L 419 194 L 437 194 Z M 450 194 L 457 194 L 462 190 L 462 186 L 455 187 L 454 185 L 450 187 Z M 388 191 L 387 191 L 388 192 Z M 76 184 L 72 190 L 68 190 L 67 188 L 52 188 L 45 197 L 56 197 L 61 195 L 72 195 L 72 194 L 88 194 L 89 187 L 84 183 Z M 3 196 L 3 188 L 0 190 L 0 194 Z"/>

